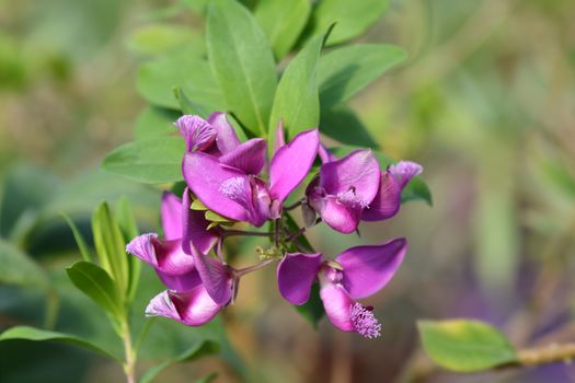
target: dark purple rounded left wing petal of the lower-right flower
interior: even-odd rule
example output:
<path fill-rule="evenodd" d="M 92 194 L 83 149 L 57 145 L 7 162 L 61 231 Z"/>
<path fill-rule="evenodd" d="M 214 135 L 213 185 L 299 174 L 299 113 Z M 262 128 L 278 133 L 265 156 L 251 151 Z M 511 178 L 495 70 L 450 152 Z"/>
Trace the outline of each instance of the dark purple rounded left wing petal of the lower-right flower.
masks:
<path fill-rule="evenodd" d="M 277 285 L 281 297 L 300 305 L 310 299 L 311 286 L 321 264 L 321 254 L 288 253 L 277 266 Z"/>

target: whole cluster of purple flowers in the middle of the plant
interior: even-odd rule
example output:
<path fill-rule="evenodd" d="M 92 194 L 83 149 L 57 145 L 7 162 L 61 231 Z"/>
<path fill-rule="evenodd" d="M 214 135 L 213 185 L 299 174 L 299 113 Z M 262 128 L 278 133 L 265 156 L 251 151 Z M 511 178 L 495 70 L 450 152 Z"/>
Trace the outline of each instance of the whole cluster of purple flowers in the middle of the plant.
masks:
<path fill-rule="evenodd" d="M 162 197 L 163 239 L 148 233 L 127 245 L 127 252 L 151 265 L 168 288 L 151 300 L 147 315 L 203 325 L 233 301 L 243 275 L 279 260 L 277 282 L 284 299 L 304 304 L 319 281 L 320 298 L 334 326 L 368 338 L 379 336 L 381 325 L 372 307 L 356 300 L 388 283 L 403 260 L 406 241 L 356 246 L 331 259 L 309 248 L 301 234 L 320 222 L 353 233 L 361 220 L 391 218 L 400 208 L 402 189 L 422 167 L 400 162 L 381 170 L 370 150 L 337 159 L 320 143 L 318 129 L 286 143 L 281 126 L 267 161 L 266 141 L 241 142 L 223 113 L 207 120 L 185 115 L 175 126 L 186 142 L 182 172 L 187 187 L 182 198 L 171 193 Z M 313 169 L 318 155 L 319 171 Z M 285 206 L 310 173 L 317 175 L 304 197 Z M 306 225 L 294 229 L 285 212 L 297 207 Z M 273 230 L 229 229 L 237 222 L 255 228 L 269 222 Z M 261 252 L 261 263 L 237 269 L 222 254 L 223 241 L 231 235 L 268 236 L 271 247 Z"/>

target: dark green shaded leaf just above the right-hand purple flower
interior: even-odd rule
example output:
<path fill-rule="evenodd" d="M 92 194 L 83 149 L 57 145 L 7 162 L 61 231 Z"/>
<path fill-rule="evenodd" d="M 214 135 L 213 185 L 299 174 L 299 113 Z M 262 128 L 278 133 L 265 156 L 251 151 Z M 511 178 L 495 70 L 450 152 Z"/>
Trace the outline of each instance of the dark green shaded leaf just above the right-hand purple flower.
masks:
<path fill-rule="evenodd" d="M 342 143 L 378 148 L 377 142 L 373 141 L 354 111 L 344 104 L 322 109 L 320 130 Z"/>

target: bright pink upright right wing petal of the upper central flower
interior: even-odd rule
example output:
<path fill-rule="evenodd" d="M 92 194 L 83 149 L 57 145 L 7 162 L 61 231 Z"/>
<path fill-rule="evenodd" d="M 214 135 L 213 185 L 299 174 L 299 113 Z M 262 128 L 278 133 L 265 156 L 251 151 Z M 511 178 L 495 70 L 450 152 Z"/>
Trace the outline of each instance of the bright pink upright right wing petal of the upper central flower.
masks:
<path fill-rule="evenodd" d="M 297 135 L 281 147 L 269 164 L 269 196 L 283 202 L 303 181 L 318 155 L 320 134 L 318 129 Z"/>

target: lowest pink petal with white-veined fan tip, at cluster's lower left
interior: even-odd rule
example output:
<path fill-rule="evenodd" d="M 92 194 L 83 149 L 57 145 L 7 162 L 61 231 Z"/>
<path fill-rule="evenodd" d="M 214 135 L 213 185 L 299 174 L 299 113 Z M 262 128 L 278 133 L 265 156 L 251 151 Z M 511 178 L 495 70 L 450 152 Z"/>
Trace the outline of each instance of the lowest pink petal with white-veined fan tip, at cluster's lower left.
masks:
<path fill-rule="evenodd" d="M 211 321 L 221 305 L 216 304 L 199 285 L 187 292 L 163 291 L 146 307 L 147 316 L 165 316 L 188 326 L 202 326 Z"/>

